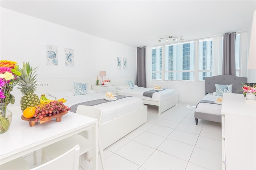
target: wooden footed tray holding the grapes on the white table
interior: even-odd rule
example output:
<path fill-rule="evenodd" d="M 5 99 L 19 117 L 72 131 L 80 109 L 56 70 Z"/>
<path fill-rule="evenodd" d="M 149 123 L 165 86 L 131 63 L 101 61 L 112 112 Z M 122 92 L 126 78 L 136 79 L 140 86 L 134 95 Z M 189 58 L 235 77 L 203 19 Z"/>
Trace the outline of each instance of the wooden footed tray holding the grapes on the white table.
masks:
<path fill-rule="evenodd" d="M 40 124 L 42 124 L 42 123 L 47 123 L 47 122 L 51 122 L 53 118 L 56 118 L 56 122 L 60 122 L 60 121 L 61 121 L 61 117 L 62 117 L 63 115 L 65 115 L 66 113 L 68 113 L 68 111 L 66 111 L 66 112 L 61 112 L 61 113 L 59 113 L 59 114 L 52 115 L 52 116 L 50 116 L 50 117 L 44 117 L 43 119 L 39 119 L 39 118 L 38 118 L 37 120 L 39 121 Z M 32 118 L 25 118 L 25 117 L 22 115 L 22 116 L 21 116 L 21 119 L 24 120 L 24 121 L 28 121 L 30 127 L 35 126 L 35 123 L 36 123 L 35 120 L 36 120 L 36 118 L 34 118 L 34 117 L 32 117 Z"/>

